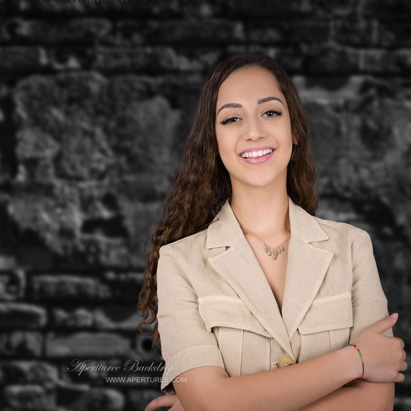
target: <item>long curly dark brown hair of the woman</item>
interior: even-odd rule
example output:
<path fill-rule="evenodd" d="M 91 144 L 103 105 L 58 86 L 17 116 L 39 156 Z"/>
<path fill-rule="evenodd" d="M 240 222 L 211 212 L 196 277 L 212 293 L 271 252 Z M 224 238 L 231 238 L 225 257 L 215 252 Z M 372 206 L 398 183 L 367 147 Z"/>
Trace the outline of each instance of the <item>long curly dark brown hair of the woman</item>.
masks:
<path fill-rule="evenodd" d="M 156 271 L 159 249 L 165 244 L 206 229 L 227 198 L 231 199 L 230 175 L 218 153 L 215 133 L 215 114 L 218 90 L 230 73 L 239 68 L 261 67 L 272 72 L 279 89 L 288 103 L 291 132 L 298 144 L 293 145 L 287 166 L 287 194 L 309 214 L 315 216 L 318 206 L 315 188 L 316 171 L 309 145 L 307 119 L 298 91 L 288 74 L 268 55 L 240 54 L 220 62 L 211 72 L 201 92 L 194 124 L 188 137 L 181 165 L 167 195 L 150 239 L 152 247 L 147 253 L 144 285 L 139 294 L 138 309 L 143 314 L 139 330 L 153 335 L 153 353 L 161 348 L 158 322 L 153 334 L 145 334 L 141 326 L 157 321 Z M 146 321 L 152 313 L 152 319 Z"/>

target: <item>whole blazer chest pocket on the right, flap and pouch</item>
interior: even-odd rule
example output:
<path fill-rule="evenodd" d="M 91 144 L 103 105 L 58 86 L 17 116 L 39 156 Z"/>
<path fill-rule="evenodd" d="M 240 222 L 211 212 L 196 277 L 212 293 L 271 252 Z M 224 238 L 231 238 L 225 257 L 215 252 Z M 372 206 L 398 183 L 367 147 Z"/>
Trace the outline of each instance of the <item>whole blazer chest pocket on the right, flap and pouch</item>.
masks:
<path fill-rule="evenodd" d="M 301 336 L 298 361 L 311 360 L 345 347 L 351 327 L 351 291 L 315 298 L 298 327 Z"/>

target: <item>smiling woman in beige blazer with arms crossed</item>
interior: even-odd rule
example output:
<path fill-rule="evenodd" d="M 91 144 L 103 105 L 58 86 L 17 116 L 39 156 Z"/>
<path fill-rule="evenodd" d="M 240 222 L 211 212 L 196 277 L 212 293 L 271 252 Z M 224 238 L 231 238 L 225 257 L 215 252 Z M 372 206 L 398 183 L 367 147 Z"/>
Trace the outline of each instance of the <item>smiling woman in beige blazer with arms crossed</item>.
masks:
<path fill-rule="evenodd" d="M 139 308 L 171 395 L 147 411 L 392 409 L 407 365 L 370 237 L 315 217 L 314 180 L 285 71 L 221 62 L 151 236 Z"/>

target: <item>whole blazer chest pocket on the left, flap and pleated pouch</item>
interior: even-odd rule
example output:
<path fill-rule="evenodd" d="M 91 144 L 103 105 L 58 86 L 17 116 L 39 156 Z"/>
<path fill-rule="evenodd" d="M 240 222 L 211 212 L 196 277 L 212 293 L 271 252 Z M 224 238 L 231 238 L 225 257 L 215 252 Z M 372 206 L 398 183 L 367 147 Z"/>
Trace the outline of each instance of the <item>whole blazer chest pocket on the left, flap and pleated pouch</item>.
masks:
<path fill-rule="evenodd" d="M 214 332 L 229 377 L 270 369 L 271 335 L 240 298 L 198 298 L 208 332 Z"/>

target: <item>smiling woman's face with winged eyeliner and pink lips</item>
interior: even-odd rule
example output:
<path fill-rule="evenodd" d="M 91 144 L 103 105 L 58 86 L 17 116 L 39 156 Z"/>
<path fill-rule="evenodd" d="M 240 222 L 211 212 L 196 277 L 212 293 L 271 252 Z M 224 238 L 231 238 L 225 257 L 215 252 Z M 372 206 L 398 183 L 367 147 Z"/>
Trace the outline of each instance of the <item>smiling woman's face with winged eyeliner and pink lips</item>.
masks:
<path fill-rule="evenodd" d="M 215 129 L 218 151 L 232 184 L 286 182 L 293 143 L 290 117 L 286 99 L 270 71 L 239 69 L 221 83 Z M 263 152 L 267 148 L 272 152 Z M 250 152 L 249 159 L 240 156 Z"/>

